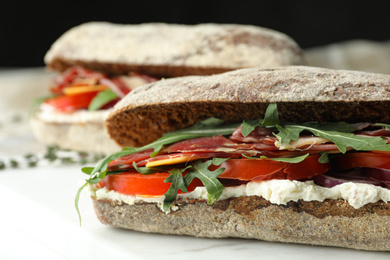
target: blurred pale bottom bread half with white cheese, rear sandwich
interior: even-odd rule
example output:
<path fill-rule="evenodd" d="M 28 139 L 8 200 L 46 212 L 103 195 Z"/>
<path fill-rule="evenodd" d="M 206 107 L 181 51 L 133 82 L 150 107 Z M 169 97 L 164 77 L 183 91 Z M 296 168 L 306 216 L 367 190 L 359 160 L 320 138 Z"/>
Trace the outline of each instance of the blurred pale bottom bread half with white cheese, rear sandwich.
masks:
<path fill-rule="evenodd" d="M 91 119 L 96 113 L 90 112 Z M 111 154 L 121 148 L 110 139 L 104 126 L 104 120 L 72 120 L 74 115 L 64 114 L 68 121 L 44 119 L 35 113 L 30 118 L 30 128 L 35 138 L 46 145 L 55 145 L 62 149 L 97 154 Z"/>

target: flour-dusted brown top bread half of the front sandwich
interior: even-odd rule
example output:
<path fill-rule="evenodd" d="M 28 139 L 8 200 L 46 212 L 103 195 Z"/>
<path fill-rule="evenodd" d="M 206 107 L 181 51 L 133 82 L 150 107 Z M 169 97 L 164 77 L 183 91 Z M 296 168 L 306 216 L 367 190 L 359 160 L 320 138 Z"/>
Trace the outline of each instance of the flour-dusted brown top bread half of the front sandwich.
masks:
<path fill-rule="evenodd" d="M 106 127 L 120 146 L 142 146 L 211 116 L 261 118 L 269 103 L 284 121 L 390 122 L 390 75 L 286 66 L 166 79 L 128 94 Z"/>

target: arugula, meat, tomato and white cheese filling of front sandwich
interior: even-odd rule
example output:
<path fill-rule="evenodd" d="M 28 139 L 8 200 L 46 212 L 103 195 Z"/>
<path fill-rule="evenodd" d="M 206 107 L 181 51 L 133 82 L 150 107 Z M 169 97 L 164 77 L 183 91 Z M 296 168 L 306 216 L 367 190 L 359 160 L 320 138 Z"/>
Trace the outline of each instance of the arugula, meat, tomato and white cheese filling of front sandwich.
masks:
<path fill-rule="evenodd" d="M 211 205 L 241 196 L 278 205 L 343 199 L 360 208 L 390 200 L 390 125 L 285 123 L 270 104 L 263 119 L 209 118 L 83 172 L 97 199 L 153 202 L 165 212 L 177 199 Z"/>

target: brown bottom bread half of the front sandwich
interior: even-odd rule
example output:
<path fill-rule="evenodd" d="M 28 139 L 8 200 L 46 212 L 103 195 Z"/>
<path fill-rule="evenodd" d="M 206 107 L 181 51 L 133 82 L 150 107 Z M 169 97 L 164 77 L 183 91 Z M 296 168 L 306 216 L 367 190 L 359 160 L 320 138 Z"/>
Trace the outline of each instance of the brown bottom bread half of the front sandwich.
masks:
<path fill-rule="evenodd" d="M 343 200 L 275 205 L 250 196 L 214 205 L 181 200 L 164 213 L 154 203 L 92 199 L 102 223 L 136 231 L 390 251 L 390 203 L 385 202 L 355 209 Z"/>

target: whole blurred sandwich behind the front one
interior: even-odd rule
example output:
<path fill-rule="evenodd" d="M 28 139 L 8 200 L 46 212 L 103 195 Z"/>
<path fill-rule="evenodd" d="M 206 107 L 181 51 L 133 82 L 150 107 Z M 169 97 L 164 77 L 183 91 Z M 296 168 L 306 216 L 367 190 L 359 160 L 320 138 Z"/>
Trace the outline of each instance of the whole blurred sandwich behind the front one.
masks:
<path fill-rule="evenodd" d="M 59 75 L 52 95 L 31 118 L 36 138 L 61 148 L 111 153 L 120 147 L 108 137 L 104 119 L 141 85 L 305 61 L 290 37 L 256 26 L 90 22 L 54 42 L 45 63 Z"/>

